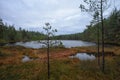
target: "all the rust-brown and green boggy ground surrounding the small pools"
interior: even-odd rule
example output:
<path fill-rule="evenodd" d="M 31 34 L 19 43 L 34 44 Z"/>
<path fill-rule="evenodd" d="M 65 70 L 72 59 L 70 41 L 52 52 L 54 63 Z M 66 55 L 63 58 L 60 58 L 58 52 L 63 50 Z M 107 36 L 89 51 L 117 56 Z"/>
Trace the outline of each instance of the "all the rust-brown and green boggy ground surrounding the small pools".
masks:
<path fill-rule="evenodd" d="M 66 54 L 73 54 L 73 52 L 80 52 L 82 50 L 90 51 L 91 48 L 51 49 L 51 54 L 54 55 L 54 52 L 56 54 L 65 54 L 65 52 Z M 91 51 L 94 50 L 93 48 Z M 117 55 L 105 57 L 104 73 L 101 71 L 101 67 L 98 66 L 97 59 L 81 61 L 76 58 L 69 59 L 67 55 L 51 58 L 50 80 L 120 80 L 119 49 L 119 47 L 106 48 L 107 51 L 114 51 Z M 38 54 L 33 55 L 32 52 L 45 54 L 46 49 L 34 50 L 24 47 L 1 47 L 0 80 L 48 80 L 46 58 L 44 60 L 38 59 L 25 63 L 21 62 L 22 56 L 25 54 L 38 58 L 41 56 Z"/>

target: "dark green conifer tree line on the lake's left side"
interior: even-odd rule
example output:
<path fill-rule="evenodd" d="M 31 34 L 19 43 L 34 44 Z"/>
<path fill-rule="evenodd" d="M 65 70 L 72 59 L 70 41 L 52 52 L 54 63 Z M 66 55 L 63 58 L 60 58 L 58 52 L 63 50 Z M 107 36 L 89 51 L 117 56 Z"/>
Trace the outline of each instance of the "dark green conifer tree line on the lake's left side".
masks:
<path fill-rule="evenodd" d="M 21 27 L 16 30 L 14 25 L 4 24 L 2 19 L 0 19 L 0 43 L 40 40 L 44 37 L 43 33 L 27 31 Z"/>

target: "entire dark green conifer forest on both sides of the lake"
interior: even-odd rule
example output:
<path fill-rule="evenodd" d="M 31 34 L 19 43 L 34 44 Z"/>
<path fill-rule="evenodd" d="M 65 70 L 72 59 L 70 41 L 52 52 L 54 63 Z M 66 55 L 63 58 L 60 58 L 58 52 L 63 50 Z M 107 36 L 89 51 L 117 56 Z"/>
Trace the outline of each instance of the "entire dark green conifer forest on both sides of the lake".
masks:
<path fill-rule="evenodd" d="M 54 39 L 58 40 L 84 40 L 97 42 L 97 32 L 99 29 L 101 41 L 101 22 L 87 25 L 82 33 L 59 35 Z M 73 26 L 74 27 L 74 26 Z M 120 44 L 120 10 L 113 10 L 113 12 L 104 19 L 105 28 L 105 43 Z M 45 35 L 40 32 L 27 31 L 19 28 L 16 30 L 13 25 L 7 25 L 0 20 L 0 43 L 3 42 L 17 42 L 45 39 Z"/>

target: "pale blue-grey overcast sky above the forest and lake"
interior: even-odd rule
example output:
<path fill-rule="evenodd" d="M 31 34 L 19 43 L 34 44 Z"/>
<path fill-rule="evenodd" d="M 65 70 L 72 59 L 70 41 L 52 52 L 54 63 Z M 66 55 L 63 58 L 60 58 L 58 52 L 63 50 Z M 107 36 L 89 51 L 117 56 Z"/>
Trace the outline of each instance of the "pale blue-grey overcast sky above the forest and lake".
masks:
<path fill-rule="evenodd" d="M 120 0 L 115 2 L 118 7 Z M 44 23 L 49 22 L 58 30 L 57 34 L 77 33 L 82 32 L 92 19 L 87 13 L 81 12 L 81 3 L 82 0 L 0 0 L 0 18 L 14 24 L 16 29 L 22 27 L 41 32 Z M 105 15 L 110 12 L 109 9 Z"/>

